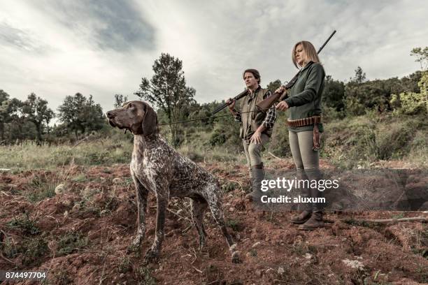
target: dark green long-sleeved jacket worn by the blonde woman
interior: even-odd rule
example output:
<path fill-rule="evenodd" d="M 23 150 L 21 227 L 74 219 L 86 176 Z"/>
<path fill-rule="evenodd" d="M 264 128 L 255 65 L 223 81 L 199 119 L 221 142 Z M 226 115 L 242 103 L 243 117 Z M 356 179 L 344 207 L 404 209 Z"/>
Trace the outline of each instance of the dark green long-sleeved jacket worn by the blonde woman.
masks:
<path fill-rule="evenodd" d="M 299 73 L 296 83 L 287 91 L 284 101 L 290 107 L 290 119 L 303 119 L 321 115 L 321 96 L 324 89 L 324 68 L 319 63 L 307 64 Z M 288 127 L 290 131 L 312 131 L 312 126 Z M 320 124 L 320 132 L 323 131 Z"/>

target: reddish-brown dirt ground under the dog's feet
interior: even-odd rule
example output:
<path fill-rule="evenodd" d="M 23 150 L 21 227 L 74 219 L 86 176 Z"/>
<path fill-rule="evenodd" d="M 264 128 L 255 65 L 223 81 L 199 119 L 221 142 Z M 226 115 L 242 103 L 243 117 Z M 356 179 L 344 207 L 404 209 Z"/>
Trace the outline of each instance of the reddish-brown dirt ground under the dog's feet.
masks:
<path fill-rule="evenodd" d="M 321 164 L 330 167 L 324 161 Z M 174 199 L 159 261 L 145 265 L 143 256 L 155 232 L 152 194 L 145 241 L 137 254 L 127 254 L 136 232 L 136 198 L 129 166 L 121 164 L 0 173 L 0 269 L 47 270 L 47 284 L 427 284 L 427 224 L 345 222 L 399 214 L 428 217 L 426 212 L 327 213 L 325 228 L 302 232 L 288 222 L 294 213 L 262 214 L 245 203 L 243 189 L 248 182 L 244 166 L 201 166 L 217 175 L 222 184 L 235 183 L 235 189 L 224 193 L 223 208 L 243 263 L 231 263 L 211 214 L 205 219 L 206 252 L 199 252 L 197 231 L 188 228 L 189 203 Z M 275 164 L 275 168 L 292 167 L 290 161 Z M 72 179 L 79 175 L 84 178 Z M 66 180 L 62 193 L 37 203 L 26 198 L 34 191 L 34 181 L 55 185 L 62 180 Z M 8 226 L 13 218 L 24 217 L 24 212 L 38 233 Z M 80 233 L 88 242 L 61 255 L 59 237 L 67 233 Z M 10 249 L 38 238 L 47 247 L 36 258 L 29 258 L 31 252 L 25 251 L 10 254 Z"/>

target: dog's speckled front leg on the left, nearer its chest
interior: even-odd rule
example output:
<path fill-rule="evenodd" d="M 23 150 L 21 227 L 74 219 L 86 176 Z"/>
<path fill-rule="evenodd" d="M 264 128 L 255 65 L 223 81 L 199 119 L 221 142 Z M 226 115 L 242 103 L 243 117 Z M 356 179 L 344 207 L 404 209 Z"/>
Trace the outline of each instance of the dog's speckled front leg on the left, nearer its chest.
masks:
<path fill-rule="evenodd" d="M 140 249 L 140 244 L 145 238 L 145 212 L 147 210 L 147 198 L 148 198 L 148 190 L 145 189 L 143 184 L 140 183 L 137 177 L 132 176 L 132 180 L 134 180 L 134 184 L 136 187 L 136 196 L 137 196 L 137 210 L 138 210 L 138 229 L 137 234 L 131 245 L 128 247 L 128 252 L 138 251 Z"/>

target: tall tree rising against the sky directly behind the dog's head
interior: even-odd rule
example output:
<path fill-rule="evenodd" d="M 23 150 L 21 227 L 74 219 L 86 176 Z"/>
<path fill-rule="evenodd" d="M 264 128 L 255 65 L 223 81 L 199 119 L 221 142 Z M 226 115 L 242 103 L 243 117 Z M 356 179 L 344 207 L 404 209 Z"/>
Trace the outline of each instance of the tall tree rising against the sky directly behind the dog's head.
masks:
<path fill-rule="evenodd" d="M 140 89 L 135 92 L 139 98 L 149 101 L 165 112 L 168 122 L 184 119 L 186 108 L 194 102 L 195 89 L 186 86 L 183 61 L 170 54 L 162 53 L 152 66 L 155 75 L 149 81 L 141 79 Z M 172 143 L 179 144 L 177 124 L 170 124 Z"/>

